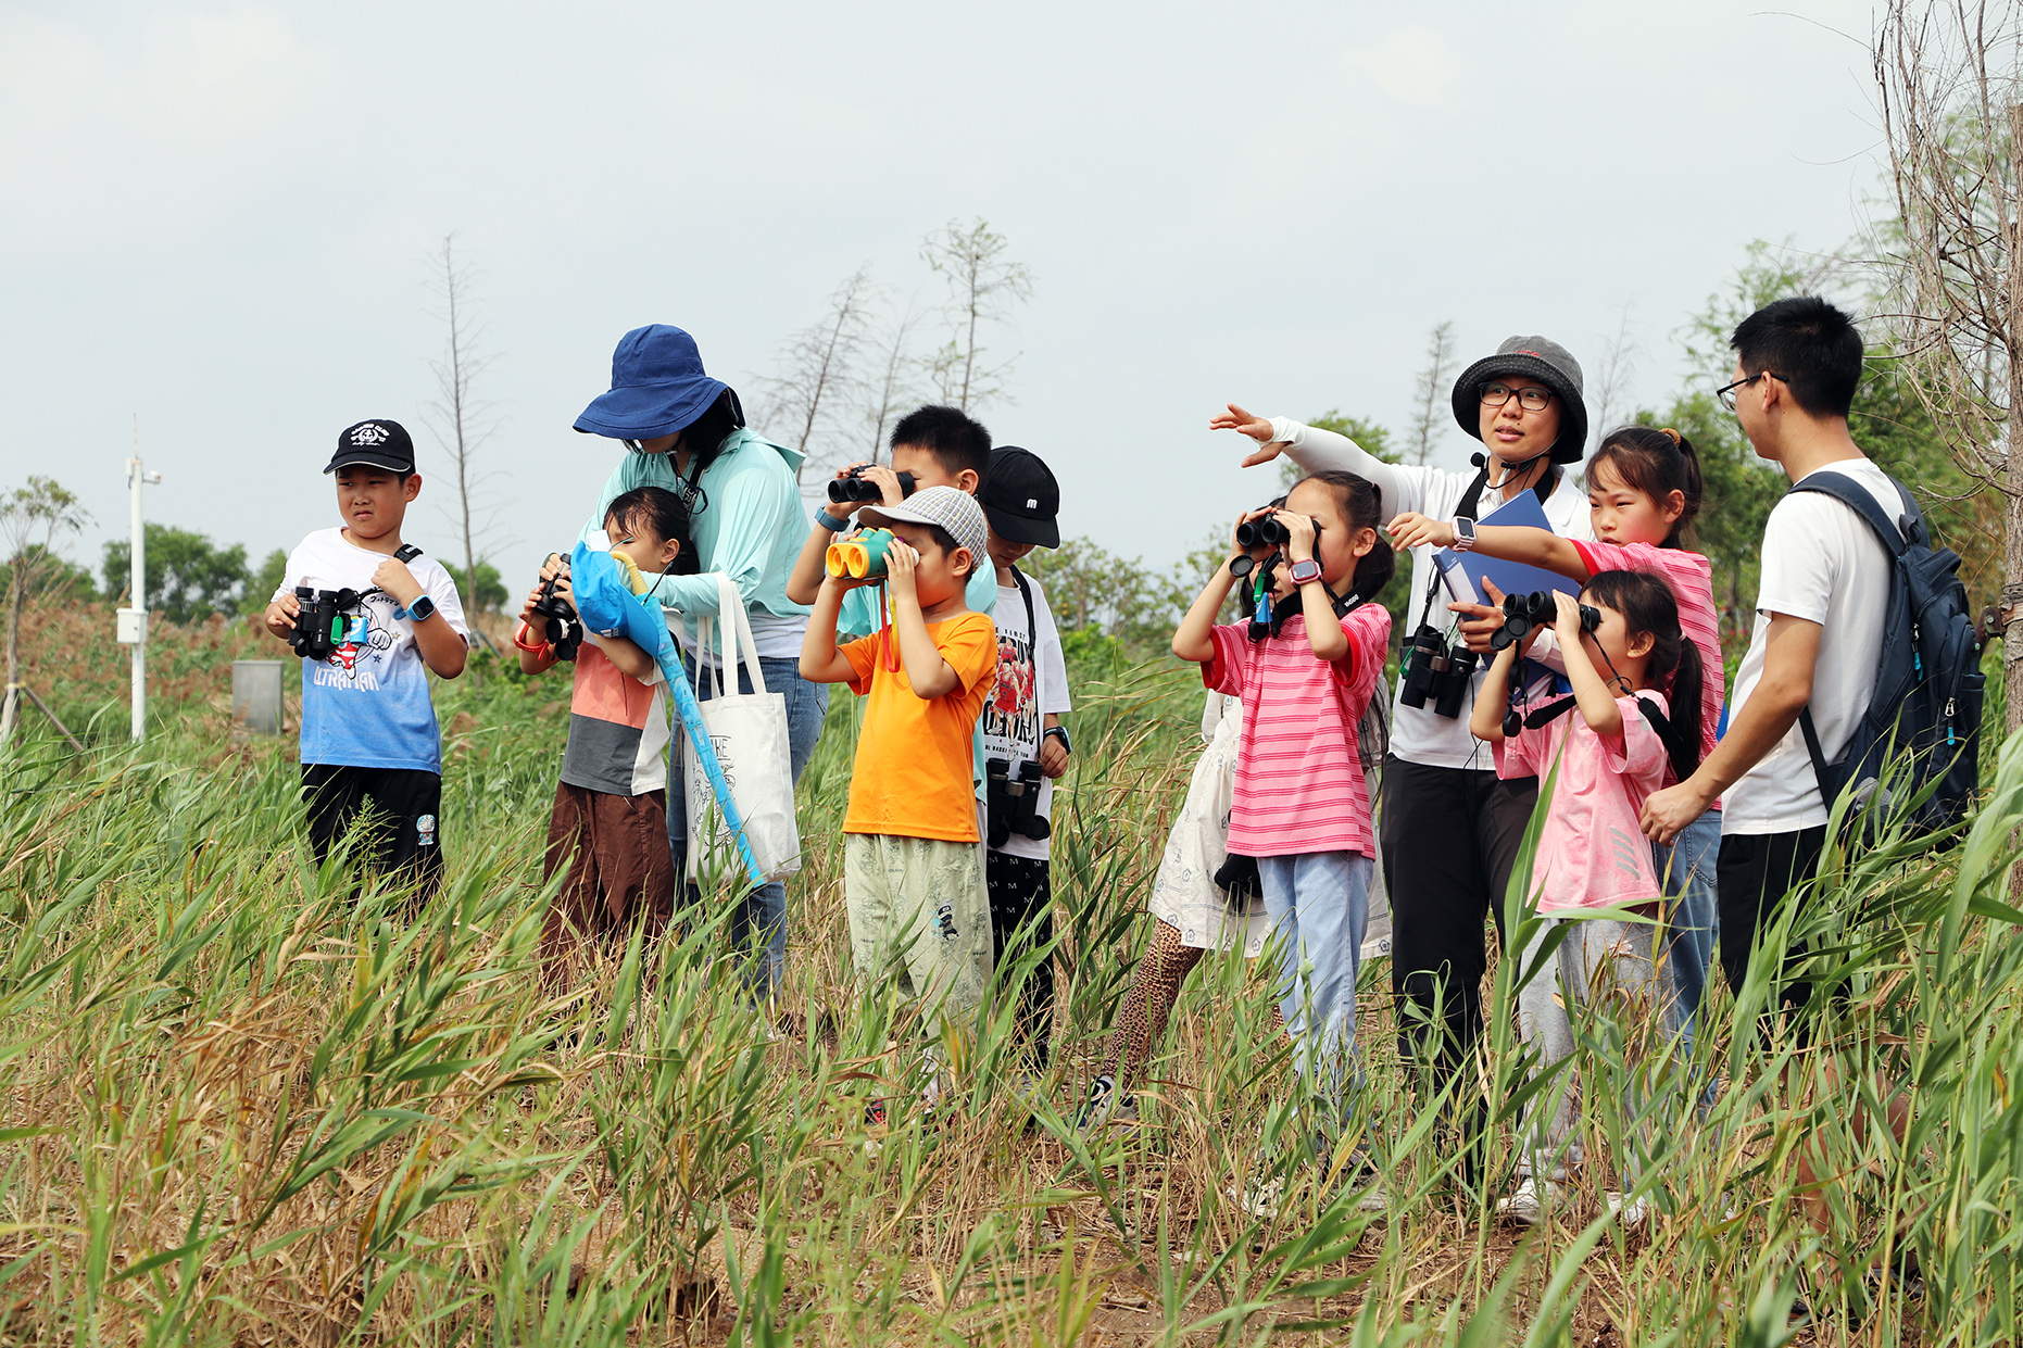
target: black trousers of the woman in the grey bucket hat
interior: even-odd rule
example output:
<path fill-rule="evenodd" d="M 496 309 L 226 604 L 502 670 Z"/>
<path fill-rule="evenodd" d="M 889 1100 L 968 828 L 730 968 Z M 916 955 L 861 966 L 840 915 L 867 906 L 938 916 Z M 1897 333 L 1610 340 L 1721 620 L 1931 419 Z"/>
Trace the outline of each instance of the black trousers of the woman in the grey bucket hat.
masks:
<path fill-rule="evenodd" d="M 1384 884 L 1392 905 L 1398 1055 L 1438 1089 L 1483 1032 L 1483 915 L 1503 943 L 1503 895 L 1537 777 L 1384 759 Z"/>

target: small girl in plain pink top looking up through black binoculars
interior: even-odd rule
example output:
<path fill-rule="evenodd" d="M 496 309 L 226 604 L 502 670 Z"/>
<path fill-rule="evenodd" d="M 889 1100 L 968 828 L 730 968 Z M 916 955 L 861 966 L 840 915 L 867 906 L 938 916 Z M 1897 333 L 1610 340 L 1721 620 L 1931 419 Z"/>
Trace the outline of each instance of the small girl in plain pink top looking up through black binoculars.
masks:
<path fill-rule="evenodd" d="M 1574 694 L 1509 706 L 1509 674 L 1519 654 L 1513 642 L 1489 666 L 1469 721 L 1477 739 L 1497 747 L 1499 775 L 1544 781 L 1558 771 L 1531 862 L 1529 899 L 1546 925 L 1525 943 L 1519 967 L 1533 965 L 1556 925 L 1578 921 L 1578 929 L 1566 933 L 1554 978 L 1537 974 L 1517 992 L 1517 1034 L 1540 1048 L 1542 1067 L 1574 1050 L 1568 1012 L 1600 990 L 1614 986 L 1657 1006 L 1651 925 L 1598 911 L 1657 905 L 1663 891 L 1639 814 L 1669 773 L 1689 777 L 1701 753 L 1699 648 L 1679 629 L 1671 585 L 1645 571 L 1602 571 L 1588 579 L 1582 603 L 1564 593 L 1554 599 L 1554 638 Z M 1606 678 L 1598 664 L 1606 666 Z M 1659 686 L 1671 688 L 1669 702 Z M 1671 721 L 1671 706 L 1687 710 Z M 1548 802 L 1544 793 L 1540 799 Z M 1604 967 L 1608 976 L 1600 978 Z M 1570 1087 L 1558 1081 L 1546 1107 L 1529 1111 L 1533 1142 L 1519 1164 L 1523 1180 L 1503 1202 L 1509 1216 L 1535 1218 L 1554 1180 L 1564 1178 L 1564 1162 L 1580 1158 L 1580 1144 L 1568 1140 Z"/>

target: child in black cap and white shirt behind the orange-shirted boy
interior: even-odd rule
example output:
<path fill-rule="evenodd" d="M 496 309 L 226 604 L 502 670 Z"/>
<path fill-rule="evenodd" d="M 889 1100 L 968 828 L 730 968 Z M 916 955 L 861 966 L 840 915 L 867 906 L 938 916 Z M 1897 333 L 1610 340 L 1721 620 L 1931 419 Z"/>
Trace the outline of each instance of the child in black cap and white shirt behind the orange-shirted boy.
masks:
<path fill-rule="evenodd" d="M 1040 581 L 1018 569 L 1034 546 L 1058 549 L 1060 484 L 1040 455 L 1018 445 L 991 451 L 977 490 L 997 569 L 997 684 L 983 702 L 983 763 L 989 802 L 989 852 L 983 874 L 991 893 L 997 965 L 1024 931 L 1026 949 L 1054 939 L 1054 884 L 1048 870 L 1054 779 L 1068 771 L 1068 662 Z M 1014 951 L 1016 957 L 1016 951 Z M 1048 955 L 1020 990 L 1018 1034 L 1026 1067 L 1046 1069 L 1054 1018 L 1054 959 Z"/>

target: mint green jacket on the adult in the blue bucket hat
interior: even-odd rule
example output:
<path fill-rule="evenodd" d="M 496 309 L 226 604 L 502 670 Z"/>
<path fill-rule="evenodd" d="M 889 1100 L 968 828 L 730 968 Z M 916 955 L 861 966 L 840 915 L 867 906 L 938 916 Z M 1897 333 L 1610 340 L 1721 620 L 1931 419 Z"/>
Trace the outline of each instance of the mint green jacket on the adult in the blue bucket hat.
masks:
<path fill-rule="evenodd" d="M 807 605 L 787 597 L 787 573 L 801 555 L 801 540 L 811 526 L 795 470 L 801 455 L 775 445 L 757 431 L 738 429 L 724 439 L 722 453 L 702 470 L 698 486 L 708 506 L 688 522 L 690 542 L 702 561 L 704 575 L 672 575 L 655 587 L 659 603 L 688 617 L 694 638 L 696 617 L 716 615 L 716 577 L 722 571 L 744 595 L 749 613 L 775 617 L 805 617 Z M 639 486 L 657 486 L 680 494 L 680 474 L 672 453 L 627 451 L 605 482 L 597 510 L 583 526 L 583 536 L 605 526 L 611 502 Z M 696 498 L 702 506 L 702 498 Z"/>

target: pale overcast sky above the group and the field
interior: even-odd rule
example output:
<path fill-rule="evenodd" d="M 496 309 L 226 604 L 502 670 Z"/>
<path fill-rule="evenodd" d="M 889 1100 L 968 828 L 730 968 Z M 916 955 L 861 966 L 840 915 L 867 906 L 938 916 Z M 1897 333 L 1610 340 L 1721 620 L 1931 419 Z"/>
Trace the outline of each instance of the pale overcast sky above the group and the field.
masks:
<path fill-rule="evenodd" d="M 481 551 L 532 575 L 621 447 L 570 431 L 639 324 L 759 409 L 870 265 L 945 338 L 920 241 L 985 219 L 1032 298 L 977 415 L 1062 532 L 1151 565 L 1270 496 L 1226 401 L 1402 431 L 1428 330 L 1546 334 L 1685 378 L 1679 326 L 1754 239 L 1835 249 L 1879 186 L 1847 0 L 1489 4 L 0 2 L 0 490 L 271 549 L 338 522 L 342 427 L 429 431 L 455 231 L 494 356 Z M 1620 342 L 1618 342 L 1620 338 Z M 1590 411 L 1592 401 L 1590 401 Z M 755 419 L 757 421 L 757 419 Z M 759 429 L 781 433 L 757 421 Z M 842 447 L 827 445 L 831 449 Z M 1436 461 L 1475 443 L 1448 421 Z M 518 581 L 514 581 L 518 585 Z"/>

